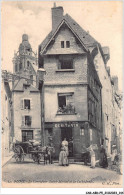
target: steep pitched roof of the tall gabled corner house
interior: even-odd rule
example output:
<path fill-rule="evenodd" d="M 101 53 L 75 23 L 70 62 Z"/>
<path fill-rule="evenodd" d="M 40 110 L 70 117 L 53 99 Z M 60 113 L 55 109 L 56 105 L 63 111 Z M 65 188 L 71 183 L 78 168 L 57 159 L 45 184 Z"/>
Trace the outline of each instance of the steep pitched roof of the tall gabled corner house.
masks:
<path fill-rule="evenodd" d="M 79 39 L 84 43 L 85 46 L 95 46 L 98 42 L 85 30 L 82 29 L 82 27 L 74 20 L 71 16 L 66 14 L 63 16 L 62 22 L 65 21 L 70 26 L 70 28 L 74 31 L 74 33 L 79 37 Z M 60 25 L 59 24 L 59 25 Z M 39 45 L 40 51 L 42 51 L 45 46 L 48 44 L 48 42 L 51 40 L 51 38 L 54 36 L 54 32 L 56 32 L 57 29 L 54 29 L 54 31 L 51 31 L 46 38 L 43 40 L 43 42 Z"/>

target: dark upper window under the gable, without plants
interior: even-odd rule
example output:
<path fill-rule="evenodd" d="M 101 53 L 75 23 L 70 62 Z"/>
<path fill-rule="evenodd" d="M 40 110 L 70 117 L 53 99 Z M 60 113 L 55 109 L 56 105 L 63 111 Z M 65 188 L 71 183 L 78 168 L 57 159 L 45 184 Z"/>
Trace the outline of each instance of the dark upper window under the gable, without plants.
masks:
<path fill-rule="evenodd" d="M 73 69 L 73 60 L 72 59 L 60 60 L 59 69 Z"/>

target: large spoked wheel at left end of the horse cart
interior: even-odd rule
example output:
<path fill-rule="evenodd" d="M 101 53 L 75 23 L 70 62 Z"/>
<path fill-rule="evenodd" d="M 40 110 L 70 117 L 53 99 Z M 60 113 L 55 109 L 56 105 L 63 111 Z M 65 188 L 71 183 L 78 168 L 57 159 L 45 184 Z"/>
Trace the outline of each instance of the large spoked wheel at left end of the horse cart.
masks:
<path fill-rule="evenodd" d="M 14 148 L 14 153 L 15 153 L 15 160 L 16 162 L 23 162 L 24 161 L 24 150 L 21 146 L 16 146 Z"/>

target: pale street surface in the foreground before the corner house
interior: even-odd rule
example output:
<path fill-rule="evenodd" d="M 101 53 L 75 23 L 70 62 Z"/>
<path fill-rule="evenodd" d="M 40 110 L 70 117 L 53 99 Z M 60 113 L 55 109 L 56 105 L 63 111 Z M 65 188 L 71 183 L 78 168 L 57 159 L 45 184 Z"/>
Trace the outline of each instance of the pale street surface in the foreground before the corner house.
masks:
<path fill-rule="evenodd" d="M 59 166 L 58 163 L 43 165 L 27 161 L 16 163 L 12 159 L 3 167 L 3 181 L 14 183 L 101 183 L 109 182 L 110 185 L 120 184 L 122 176 L 115 171 L 96 167 L 91 169 L 89 166 L 81 164 L 70 164 L 68 167 Z"/>

